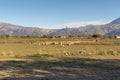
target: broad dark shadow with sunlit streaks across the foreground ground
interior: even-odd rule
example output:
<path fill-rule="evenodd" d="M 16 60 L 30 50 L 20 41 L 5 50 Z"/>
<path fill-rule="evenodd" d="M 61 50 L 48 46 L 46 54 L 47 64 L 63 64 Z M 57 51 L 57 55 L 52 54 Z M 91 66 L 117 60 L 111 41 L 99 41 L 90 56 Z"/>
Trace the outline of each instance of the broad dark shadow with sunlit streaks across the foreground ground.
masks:
<path fill-rule="evenodd" d="M 118 59 L 0 61 L 0 80 L 120 80 Z"/>

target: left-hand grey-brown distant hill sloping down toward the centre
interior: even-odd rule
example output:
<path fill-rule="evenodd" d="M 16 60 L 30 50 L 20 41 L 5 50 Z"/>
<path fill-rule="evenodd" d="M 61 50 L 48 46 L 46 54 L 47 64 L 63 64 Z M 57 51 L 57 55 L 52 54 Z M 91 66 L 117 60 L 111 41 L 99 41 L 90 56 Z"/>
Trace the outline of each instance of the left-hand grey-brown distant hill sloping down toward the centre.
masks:
<path fill-rule="evenodd" d="M 42 36 L 48 35 L 53 30 L 42 29 L 37 27 L 24 27 L 8 23 L 0 23 L 0 35 L 13 35 L 13 36 Z"/>

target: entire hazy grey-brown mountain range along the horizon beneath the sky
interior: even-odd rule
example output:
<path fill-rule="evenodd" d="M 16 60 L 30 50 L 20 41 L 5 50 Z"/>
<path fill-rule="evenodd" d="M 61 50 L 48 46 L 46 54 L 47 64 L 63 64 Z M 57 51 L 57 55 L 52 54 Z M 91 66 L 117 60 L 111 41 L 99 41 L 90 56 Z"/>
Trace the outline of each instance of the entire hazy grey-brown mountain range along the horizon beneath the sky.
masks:
<path fill-rule="evenodd" d="M 76 27 L 76 26 L 75 26 Z M 120 35 L 120 18 L 113 20 L 104 25 L 87 25 L 79 28 L 63 28 L 63 29 L 43 29 L 38 27 L 24 27 L 9 23 L 0 22 L 0 35 L 12 36 L 89 36 L 93 34 L 101 35 Z"/>

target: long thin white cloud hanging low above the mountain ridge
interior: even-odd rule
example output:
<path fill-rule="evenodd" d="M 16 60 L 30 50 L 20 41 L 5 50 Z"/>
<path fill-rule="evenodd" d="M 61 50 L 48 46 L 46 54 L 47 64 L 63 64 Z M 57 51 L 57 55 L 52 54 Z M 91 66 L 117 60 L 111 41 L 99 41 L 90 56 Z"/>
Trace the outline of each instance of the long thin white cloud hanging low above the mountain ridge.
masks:
<path fill-rule="evenodd" d="M 81 22 L 73 22 L 73 23 L 65 23 L 65 24 L 59 24 L 59 25 L 52 25 L 49 26 L 50 28 L 54 28 L 54 29 L 61 29 L 61 28 L 65 28 L 65 27 L 69 27 L 69 28 L 73 28 L 73 27 L 83 27 L 83 26 L 87 26 L 87 25 L 102 25 L 102 24 L 106 24 L 109 21 L 81 21 Z"/>

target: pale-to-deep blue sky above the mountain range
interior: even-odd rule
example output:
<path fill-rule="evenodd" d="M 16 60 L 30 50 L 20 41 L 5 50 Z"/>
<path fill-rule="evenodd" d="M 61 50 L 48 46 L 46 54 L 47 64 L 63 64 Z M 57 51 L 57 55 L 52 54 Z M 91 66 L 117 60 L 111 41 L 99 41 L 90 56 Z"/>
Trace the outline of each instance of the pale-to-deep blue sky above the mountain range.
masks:
<path fill-rule="evenodd" d="M 42 28 L 105 23 L 120 17 L 120 0 L 0 0 L 0 22 Z M 53 26 L 52 26 L 53 25 Z"/>

